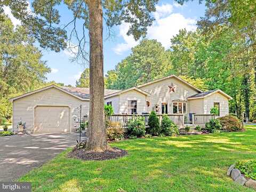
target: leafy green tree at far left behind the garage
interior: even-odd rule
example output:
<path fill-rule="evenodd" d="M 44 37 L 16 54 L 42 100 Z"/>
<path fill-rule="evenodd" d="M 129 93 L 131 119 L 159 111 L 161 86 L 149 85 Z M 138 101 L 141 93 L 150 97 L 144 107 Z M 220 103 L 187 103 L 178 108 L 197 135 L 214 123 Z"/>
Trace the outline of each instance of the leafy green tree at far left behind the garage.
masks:
<path fill-rule="evenodd" d="M 33 45 L 34 38 L 24 27 L 14 26 L 3 15 L 0 21 L 0 117 L 11 117 L 8 98 L 30 91 L 44 83 L 50 68 L 42 61 L 42 53 Z"/>

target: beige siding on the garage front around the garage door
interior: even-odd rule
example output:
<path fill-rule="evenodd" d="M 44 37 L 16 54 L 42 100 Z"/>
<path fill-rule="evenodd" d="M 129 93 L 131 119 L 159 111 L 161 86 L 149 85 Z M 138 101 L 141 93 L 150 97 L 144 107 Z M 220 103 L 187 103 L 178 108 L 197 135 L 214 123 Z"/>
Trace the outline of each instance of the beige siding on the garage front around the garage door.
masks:
<path fill-rule="evenodd" d="M 72 95 L 62 92 L 54 87 L 37 92 L 26 97 L 13 101 L 13 130 L 17 131 L 18 122 L 21 120 L 26 122 L 26 129 L 33 132 L 34 130 L 34 108 L 36 106 L 67 106 L 70 107 L 72 117 L 79 117 L 79 108 L 82 105 L 82 117 L 89 115 L 89 101 L 79 100 Z M 71 118 L 71 129 L 78 126 L 73 118 Z"/>

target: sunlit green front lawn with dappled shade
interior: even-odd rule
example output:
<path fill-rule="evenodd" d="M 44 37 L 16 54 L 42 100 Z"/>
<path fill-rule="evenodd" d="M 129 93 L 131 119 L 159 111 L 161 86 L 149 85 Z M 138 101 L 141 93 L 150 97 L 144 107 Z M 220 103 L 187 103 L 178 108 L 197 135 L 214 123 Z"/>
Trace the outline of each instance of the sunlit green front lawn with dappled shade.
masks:
<path fill-rule="evenodd" d="M 125 140 L 128 156 L 79 161 L 64 153 L 19 181 L 33 191 L 253 191 L 226 176 L 228 166 L 256 159 L 256 126 L 246 132 Z"/>

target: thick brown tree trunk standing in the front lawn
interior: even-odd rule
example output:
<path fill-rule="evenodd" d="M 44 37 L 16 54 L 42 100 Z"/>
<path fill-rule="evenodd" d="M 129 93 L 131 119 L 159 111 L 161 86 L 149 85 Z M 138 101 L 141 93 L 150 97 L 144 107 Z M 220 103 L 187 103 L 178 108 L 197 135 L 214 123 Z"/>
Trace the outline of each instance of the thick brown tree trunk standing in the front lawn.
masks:
<path fill-rule="evenodd" d="M 102 42 L 102 5 L 100 0 L 91 0 L 89 5 L 90 37 L 90 111 L 86 148 L 103 151 L 107 149 L 104 116 L 104 76 Z"/>

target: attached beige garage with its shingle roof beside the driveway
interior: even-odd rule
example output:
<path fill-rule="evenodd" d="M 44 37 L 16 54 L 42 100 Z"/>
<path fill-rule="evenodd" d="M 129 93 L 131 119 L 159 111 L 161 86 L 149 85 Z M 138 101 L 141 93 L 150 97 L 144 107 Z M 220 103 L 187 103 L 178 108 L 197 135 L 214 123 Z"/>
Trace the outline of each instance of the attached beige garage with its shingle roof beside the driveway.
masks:
<path fill-rule="evenodd" d="M 105 90 L 112 94 L 118 90 Z M 63 133 L 79 127 L 80 106 L 82 118 L 88 119 L 90 90 L 81 87 L 50 85 L 11 98 L 12 127 L 18 132 L 18 124 L 26 123 L 30 133 Z"/>

